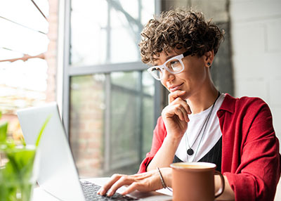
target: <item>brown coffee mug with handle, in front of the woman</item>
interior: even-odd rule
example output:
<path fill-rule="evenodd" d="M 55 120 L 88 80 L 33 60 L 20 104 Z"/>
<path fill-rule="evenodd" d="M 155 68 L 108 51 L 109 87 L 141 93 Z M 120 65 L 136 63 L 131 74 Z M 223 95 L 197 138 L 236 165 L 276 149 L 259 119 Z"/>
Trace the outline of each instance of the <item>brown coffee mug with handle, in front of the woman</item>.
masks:
<path fill-rule="evenodd" d="M 224 190 L 224 179 L 216 164 L 209 162 L 177 162 L 171 164 L 173 200 L 214 201 Z M 214 175 L 221 177 L 221 188 L 215 193 Z"/>

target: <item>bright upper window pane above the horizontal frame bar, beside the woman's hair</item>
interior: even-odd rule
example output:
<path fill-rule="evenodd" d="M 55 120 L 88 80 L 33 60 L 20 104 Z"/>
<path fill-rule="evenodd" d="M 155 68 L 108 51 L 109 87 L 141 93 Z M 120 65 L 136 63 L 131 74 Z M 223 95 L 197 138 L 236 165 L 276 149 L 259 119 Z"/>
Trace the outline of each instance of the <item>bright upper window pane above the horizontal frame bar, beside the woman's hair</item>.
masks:
<path fill-rule="evenodd" d="M 153 13 L 154 1 L 72 0 L 70 64 L 140 61 L 140 32 Z"/>

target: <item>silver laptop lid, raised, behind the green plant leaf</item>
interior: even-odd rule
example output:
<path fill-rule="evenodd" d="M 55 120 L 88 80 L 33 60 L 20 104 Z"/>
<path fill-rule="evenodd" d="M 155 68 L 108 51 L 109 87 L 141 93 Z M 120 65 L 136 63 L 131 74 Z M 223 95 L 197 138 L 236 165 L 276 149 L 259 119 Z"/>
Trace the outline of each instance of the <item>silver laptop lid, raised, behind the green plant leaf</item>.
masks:
<path fill-rule="evenodd" d="M 51 119 L 41 136 L 38 150 L 39 186 L 60 200 L 85 200 L 56 103 L 18 110 L 18 119 L 25 142 L 35 143 L 49 115 Z"/>

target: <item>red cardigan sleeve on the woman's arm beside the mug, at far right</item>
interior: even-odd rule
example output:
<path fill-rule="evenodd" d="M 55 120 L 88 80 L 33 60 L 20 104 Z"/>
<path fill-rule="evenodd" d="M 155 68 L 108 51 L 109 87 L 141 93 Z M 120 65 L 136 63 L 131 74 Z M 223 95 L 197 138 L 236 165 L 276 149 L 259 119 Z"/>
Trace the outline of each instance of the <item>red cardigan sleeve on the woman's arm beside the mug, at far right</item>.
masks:
<path fill-rule="evenodd" d="M 248 108 L 242 117 L 242 137 L 235 136 L 241 144 L 234 148 L 240 153 L 240 162 L 235 171 L 224 175 L 234 190 L 235 200 L 274 200 L 280 179 L 279 142 L 268 105 L 257 98 L 252 103 L 248 105 L 251 110 Z"/>

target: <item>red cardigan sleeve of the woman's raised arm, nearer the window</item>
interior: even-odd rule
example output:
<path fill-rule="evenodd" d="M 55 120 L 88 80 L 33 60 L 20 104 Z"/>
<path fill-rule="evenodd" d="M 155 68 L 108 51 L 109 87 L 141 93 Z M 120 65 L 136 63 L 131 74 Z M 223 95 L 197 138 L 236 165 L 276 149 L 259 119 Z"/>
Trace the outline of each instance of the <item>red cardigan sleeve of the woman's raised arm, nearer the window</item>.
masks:
<path fill-rule="evenodd" d="M 138 173 L 145 172 L 148 164 L 150 164 L 151 160 L 161 147 L 164 138 L 166 137 L 166 128 L 163 122 L 162 117 L 157 119 L 157 125 L 153 131 L 152 145 L 150 152 L 146 154 L 145 159 L 141 162 L 140 169 L 138 169 Z"/>

